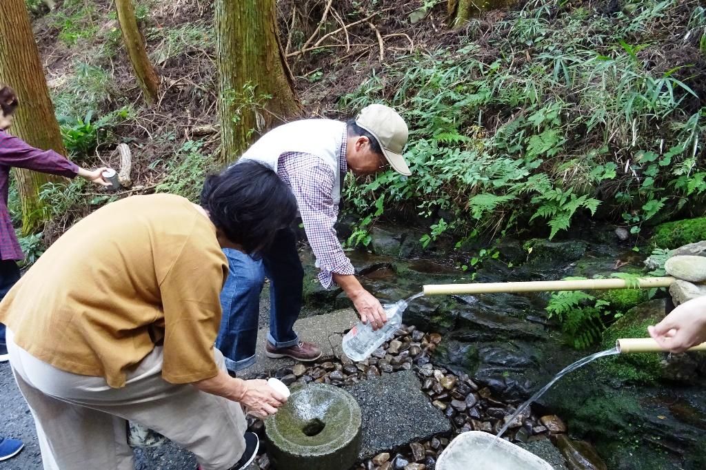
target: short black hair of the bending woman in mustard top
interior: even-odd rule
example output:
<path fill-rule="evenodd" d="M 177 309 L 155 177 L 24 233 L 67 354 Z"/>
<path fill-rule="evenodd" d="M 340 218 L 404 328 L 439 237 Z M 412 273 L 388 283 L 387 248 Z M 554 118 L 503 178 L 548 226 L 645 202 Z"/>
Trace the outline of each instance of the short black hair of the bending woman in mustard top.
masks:
<path fill-rule="evenodd" d="M 267 165 L 243 160 L 206 178 L 201 206 L 211 221 L 249 255 L 260 255 L 297 215 L 289 186 Z"/>

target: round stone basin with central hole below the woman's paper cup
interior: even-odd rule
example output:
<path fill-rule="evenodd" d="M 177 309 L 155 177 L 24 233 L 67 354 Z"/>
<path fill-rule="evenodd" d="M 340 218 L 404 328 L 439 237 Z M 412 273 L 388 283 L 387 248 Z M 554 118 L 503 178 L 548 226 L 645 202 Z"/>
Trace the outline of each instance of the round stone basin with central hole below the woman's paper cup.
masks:
<path fill-rule="evenodd" d="M 360 407 L 339 387 L 304 385 L 265 418 L 265 435 L 277 470 L 349 469 L 360 452 Z"/>

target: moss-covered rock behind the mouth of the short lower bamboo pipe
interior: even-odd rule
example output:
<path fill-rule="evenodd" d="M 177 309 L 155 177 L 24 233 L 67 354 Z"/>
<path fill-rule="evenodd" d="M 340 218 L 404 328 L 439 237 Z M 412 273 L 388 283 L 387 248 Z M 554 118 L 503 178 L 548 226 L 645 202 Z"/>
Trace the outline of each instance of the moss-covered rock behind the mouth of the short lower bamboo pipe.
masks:
<path fill-rule="evenodd" d="M 664 318 L 664 312 L 664 299 L 641 303 L 631 308 L 603 332 L 603 347 L 615 347 L 616 340 L 621 338 L 647 337 L 647 326 L 659 323 Z M 662 378 L 663 357 L 662 353 L 625 354 L 612 361 L 604 361 L 600 366 L 618 380 L 650 384 Z"/>

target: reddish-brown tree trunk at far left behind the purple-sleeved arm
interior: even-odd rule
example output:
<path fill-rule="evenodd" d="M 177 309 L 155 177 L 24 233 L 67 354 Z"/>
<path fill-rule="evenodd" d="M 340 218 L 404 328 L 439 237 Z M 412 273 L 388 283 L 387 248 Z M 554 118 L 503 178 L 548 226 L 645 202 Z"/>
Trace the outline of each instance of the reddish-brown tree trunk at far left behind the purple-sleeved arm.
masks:
<path fill-rule="evenodd" d="M 11 133 L 34 147 L 66 155 L 24 0 L 0 1 L 0 83 L 10 85 L 20 100 Z M 15 176 L 26 235 L 44 222 L 39 192 L 54 178 L 24 169 L 16 169 Z"/>

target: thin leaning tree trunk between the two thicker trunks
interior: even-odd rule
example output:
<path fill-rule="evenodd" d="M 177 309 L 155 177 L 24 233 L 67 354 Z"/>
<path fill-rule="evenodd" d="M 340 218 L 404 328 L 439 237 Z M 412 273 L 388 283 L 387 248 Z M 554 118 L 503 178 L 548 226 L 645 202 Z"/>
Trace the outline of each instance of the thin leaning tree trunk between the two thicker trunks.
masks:
<path fill-rule="evenodd" d="M 137 25 L 132 0 L 115 0 L 115 8 L 118 11 L 120 30 L 135 76 L 145 95 L 145 101 L 153 104 L 157 101 L 157 95 L 160 92 L 160 78 L 157 77 L 155 68 L 152 67 L 147 56 L 145 38 Z"/>

